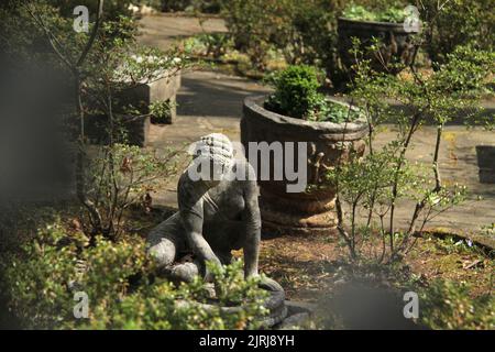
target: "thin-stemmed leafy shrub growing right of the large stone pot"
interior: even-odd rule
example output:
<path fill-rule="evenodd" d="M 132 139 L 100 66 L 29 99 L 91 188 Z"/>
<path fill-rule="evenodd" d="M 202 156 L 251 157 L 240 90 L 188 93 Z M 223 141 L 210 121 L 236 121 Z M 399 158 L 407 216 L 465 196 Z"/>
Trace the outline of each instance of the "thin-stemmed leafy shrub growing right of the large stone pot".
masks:
<path fill-rule="evenodd" d="M 359 54 L 358 50 L 356 57 Z M 338 191 L 339 231 L 352 261 L 392 263 L 400 260 L 415 244 L 411 235 L 417 229 L 421 231 L 437 215 L 466 198 L 464 186 L 443 183 L 441 178 L 442 132 L 446 123 L 459 114 L 468 125 L 475 122 L 485 77 L 493 72 L 493 65 L 491 53 L 472 47 L 458 48 L 432 75 L 409 67 L 413 79 L 375 73 L 370 68 L 370 61 L 358 63 L 351 97 L 369 123 L 369 155 L 352 158 L 350 164 L 339 165 L 329 175 Z M 392 107 L 391 101 L 398 102 L 400 108 Z M 397 125 L 397 136 L 377 150 L 375 133 L 385 122 Z M 437 128 L 430 173 L 421 170 L 425 166 L 410 167 L 406 155 L 413 136 L 426 123 Z M 493 120 L 486 123 L 490 125 Z M 404 231 L 395 227 L 399 199 L 416 204 Z M 348 216 L 342 205 L 350 209 Z M 349 220 L 349 230 L 344 228 L 345 220 Z M 371 251 L 374 253 L 371 257 L 363 257 L 364 253 L 370 253 L 370 248 L 378 251 Z"/>

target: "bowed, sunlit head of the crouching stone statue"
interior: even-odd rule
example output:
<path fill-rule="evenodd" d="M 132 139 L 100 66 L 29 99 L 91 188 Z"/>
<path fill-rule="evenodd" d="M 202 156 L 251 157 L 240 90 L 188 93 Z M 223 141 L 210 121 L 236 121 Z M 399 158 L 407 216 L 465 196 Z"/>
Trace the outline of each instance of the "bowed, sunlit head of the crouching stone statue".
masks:
<path fill-rule="evenodd" d="M 202 136 L 194 147 L 195 178 L 209 186 L 217 185 L 230 170 L 233 158 L 232 142 L 226 135 L 212 133 Z"/>

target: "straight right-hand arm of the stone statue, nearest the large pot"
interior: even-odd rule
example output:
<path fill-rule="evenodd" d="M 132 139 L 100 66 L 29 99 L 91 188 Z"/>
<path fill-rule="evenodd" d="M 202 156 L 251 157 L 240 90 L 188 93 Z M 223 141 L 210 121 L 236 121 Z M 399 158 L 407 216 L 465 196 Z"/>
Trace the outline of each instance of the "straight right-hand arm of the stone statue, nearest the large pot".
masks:
<path fill-rule="evenodd" d="M 261 215 L 257 202 L 258 189 L 255 180 L 248 180 L 244 188 L 245 208 L 243 220 L 245 223 L 244 242 L 244 275 L 255 276 L 260 256 Z"/>

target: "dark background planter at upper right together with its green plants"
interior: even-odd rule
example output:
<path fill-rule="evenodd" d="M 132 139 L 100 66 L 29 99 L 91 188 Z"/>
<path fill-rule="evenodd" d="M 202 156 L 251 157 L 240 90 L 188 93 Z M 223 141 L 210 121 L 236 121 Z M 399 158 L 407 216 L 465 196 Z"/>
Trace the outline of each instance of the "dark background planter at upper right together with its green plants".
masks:
<path fill-rule="evenodd" d="M 416 52 L 413 35 L 418 33 L 418 29 L 404 25 L 410 15 L 400 6 L 371 11 L 350 3 L 338 19 L 339 54 L 345 68 L 351 70 L 355 64 L 354 38 L 377 72 L 395 75 L 409 65 Z"/>

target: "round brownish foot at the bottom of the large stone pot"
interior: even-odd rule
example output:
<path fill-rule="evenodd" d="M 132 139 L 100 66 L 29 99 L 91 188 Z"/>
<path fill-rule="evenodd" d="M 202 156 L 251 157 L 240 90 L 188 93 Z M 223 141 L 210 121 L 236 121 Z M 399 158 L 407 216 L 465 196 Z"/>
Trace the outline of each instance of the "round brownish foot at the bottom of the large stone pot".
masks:
<path fill-rule="evenodd" d="M 312 234 L 334 232 L 337 212 L 329 210 L 317 215 L 297 215 L 260 206 L 263 228 L 280 234 Z"/>

